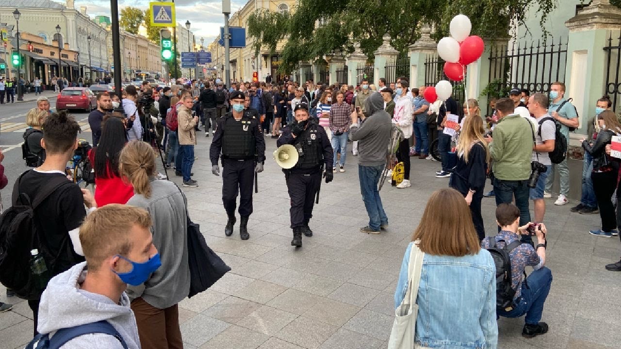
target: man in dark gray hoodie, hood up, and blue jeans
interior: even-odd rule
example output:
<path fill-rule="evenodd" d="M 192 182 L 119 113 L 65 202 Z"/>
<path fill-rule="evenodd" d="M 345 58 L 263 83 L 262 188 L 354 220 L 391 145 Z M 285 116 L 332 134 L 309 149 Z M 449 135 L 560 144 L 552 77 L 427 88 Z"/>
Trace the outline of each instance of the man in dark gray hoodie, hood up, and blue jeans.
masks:
<path fill-rule="evenodd" d="M 358 114 L 351 113 L 349 138 L 358 141 L 358 178 L 360 191 L 369 215 L 369 225 L 360 232 L 379 234 L 388 227 L 388 217 L 379 197 L 378 182 L 386 165 L 386 153 L 391 137 L 391 116 L 384 111 L 384 99 L 377 92 L 365 101 L 365 115 L 358 124 Z"/>

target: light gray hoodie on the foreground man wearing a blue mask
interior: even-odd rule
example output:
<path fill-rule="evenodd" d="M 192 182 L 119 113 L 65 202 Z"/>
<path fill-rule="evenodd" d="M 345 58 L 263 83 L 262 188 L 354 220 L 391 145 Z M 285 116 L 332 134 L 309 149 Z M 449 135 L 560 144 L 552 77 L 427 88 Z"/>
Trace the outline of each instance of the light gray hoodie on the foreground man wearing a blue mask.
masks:
<path fill-rule="evenodd" d="M 86 278 L 86 262 L 76 264 L 70 270 L 54 276 L 43 291 L 39 304 L 39 333 L 106 320 L 120 333 L 130 349 L 140 349 L 140 338 L 134 312 L 129 307 L 129 297 L 123 292 L 119 303 L 101 294 L 79 288 Z M 117 338 L 103 333 L 82 335 L 67 342 L 63 349 L 123 348 Z"/>

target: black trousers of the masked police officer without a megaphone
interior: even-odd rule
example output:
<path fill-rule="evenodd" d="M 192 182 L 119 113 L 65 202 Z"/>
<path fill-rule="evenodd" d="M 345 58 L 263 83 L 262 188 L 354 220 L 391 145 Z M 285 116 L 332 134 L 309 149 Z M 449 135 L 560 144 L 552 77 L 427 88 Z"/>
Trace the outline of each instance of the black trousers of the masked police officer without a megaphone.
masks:
<path fill-rule="evenodd" d="M 222 202 L 227 215 L 235 215 L 237 193 L 240 194 L 239 214 L 252 214 L 252 189 L 255 179 L 254 160 L 222 160 Z"/>

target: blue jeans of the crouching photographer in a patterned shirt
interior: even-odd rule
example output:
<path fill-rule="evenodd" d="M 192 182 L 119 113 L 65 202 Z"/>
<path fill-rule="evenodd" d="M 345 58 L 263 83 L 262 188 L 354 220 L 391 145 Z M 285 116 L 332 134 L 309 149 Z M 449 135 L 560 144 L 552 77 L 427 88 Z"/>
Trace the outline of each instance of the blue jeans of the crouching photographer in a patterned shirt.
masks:
<path fill-rule="evenodd" d="M 542 319 L 543 303 L 548 297 L 551 284 L 550 269 L 544 266 L 533 271 L 526 278 L 526 282 L 522 283 L 522 294 L 519 299 L 515 300 L 514 309 L 508 312 L 504 309 L 496 309 L 496 314 L 502 317 L 520 317 L 526 314 L 525 323 L 537 325 Z"/>

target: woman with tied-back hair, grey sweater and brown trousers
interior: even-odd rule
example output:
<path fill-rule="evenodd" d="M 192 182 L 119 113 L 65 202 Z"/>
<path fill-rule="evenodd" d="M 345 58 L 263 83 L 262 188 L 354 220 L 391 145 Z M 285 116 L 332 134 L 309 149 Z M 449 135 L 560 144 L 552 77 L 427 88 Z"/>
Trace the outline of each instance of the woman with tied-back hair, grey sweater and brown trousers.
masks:
<path fill-rule="evenodd" d="M 175 183 L 155 178 L 155 151 L 148 143 L 127 143 L 119 162 L 121 176 L 134 186 L 127 204 L 151 214 L 153 245 L 161 259 L 145 283 L 127 287 L 140 343 L 143 348 L 181 349 L 178 303 L 190 287 L 186 197 Z"/>

